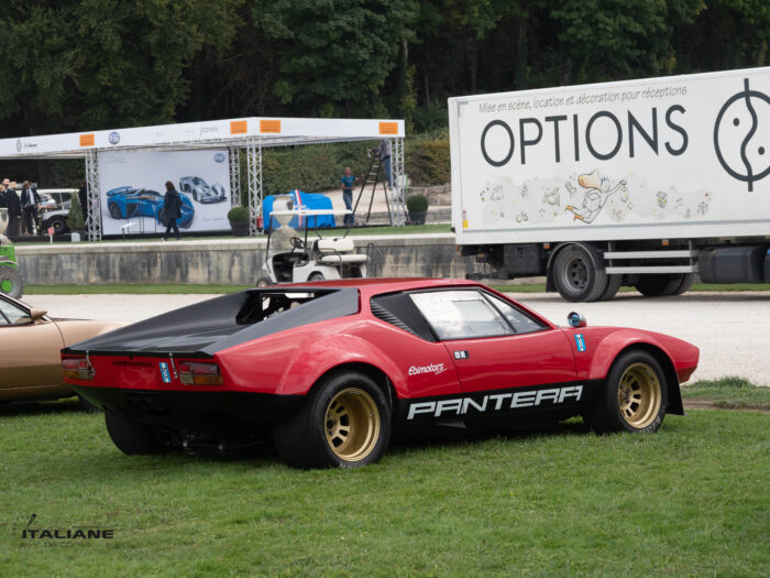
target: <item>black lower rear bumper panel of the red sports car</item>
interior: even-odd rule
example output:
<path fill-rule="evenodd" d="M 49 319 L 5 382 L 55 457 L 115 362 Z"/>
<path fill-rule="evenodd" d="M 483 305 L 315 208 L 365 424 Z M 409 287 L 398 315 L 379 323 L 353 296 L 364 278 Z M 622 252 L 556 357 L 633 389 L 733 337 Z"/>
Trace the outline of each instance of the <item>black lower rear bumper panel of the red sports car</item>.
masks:
<path fill-rule="evenodd" d="M 72 388 L 106 412 L 155 428 L 206 433 L 254 429 L 292 415 L 305 401 L 304 395 L 251 392 Z"/>

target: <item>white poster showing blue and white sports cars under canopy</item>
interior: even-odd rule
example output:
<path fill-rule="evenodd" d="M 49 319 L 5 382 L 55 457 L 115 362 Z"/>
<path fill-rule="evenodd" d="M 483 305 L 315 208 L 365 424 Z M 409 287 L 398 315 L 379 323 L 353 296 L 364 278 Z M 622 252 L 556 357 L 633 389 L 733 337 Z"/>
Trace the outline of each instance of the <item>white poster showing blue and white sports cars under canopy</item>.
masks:
<path fill-rule="evenodd" d="M 103 235 L 163 233 L 165 183 L 182 197 L 179 230 L 229 230 L 228 150 L 107 151 L 99 153 L 99 190 Z M 130 225 L 129 227 L 125 227 Z"/>

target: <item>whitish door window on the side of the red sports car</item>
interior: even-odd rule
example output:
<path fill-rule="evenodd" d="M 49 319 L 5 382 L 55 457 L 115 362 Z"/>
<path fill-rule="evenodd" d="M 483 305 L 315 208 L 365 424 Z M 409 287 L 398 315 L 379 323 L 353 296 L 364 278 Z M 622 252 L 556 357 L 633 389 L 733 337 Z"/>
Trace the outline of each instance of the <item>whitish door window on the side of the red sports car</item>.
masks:
<path fill-rule="evenodd" d="M 514 332 L 479 291 L 436 291 L 409 296 L 439 339 L 497 337 Z"/>

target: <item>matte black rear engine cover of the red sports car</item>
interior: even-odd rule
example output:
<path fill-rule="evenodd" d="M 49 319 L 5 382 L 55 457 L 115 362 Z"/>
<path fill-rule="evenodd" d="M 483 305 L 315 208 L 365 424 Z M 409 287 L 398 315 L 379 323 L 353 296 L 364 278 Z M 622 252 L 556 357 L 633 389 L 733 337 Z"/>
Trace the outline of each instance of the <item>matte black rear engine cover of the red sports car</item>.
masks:
<path fill-rule="evenodd" d="M 295 327 L 353 315 L 354 287 L 246 290 L 189 305 L 65 348 L 64 353 L 211 357 Z"/>

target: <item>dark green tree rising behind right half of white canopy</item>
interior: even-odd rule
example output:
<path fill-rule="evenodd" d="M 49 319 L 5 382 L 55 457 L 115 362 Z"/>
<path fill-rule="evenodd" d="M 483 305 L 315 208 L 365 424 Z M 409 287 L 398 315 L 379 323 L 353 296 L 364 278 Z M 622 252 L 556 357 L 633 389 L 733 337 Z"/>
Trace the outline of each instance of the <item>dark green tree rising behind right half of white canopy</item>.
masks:
<path fill-rule="evenodd" d="M 274 94 L 331 114 L 372 103 L 396 66 L 411 0 L 256 0 L 258 31 L 278 43 Z"/>

